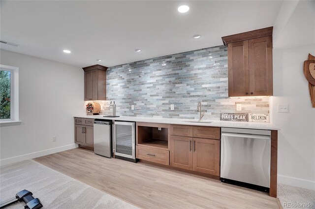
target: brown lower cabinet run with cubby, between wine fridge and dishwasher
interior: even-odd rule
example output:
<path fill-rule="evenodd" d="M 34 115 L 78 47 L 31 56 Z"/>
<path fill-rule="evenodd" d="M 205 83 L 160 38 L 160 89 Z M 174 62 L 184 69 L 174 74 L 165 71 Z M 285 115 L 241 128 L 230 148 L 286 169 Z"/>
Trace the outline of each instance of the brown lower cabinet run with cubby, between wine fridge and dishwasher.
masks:
<path fill-rule="evenodd" d="M 137 122 L 136 158 L 220 176 L 220 127 Z"/>

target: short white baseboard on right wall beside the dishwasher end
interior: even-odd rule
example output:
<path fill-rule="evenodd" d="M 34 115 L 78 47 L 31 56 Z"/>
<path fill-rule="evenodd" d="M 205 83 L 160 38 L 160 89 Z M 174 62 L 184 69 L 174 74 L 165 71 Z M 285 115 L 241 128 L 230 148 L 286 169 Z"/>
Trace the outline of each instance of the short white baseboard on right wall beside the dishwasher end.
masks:
<path fill-rule="evenodd" d="M 315 181 L 278 175 L 278 183 L 315 190 Z"/>

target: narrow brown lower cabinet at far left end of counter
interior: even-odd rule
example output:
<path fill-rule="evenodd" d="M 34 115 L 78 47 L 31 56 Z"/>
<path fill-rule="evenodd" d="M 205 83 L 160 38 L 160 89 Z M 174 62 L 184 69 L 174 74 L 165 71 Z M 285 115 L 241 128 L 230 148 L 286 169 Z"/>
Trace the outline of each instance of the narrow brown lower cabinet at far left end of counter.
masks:
<path fill-rule="evenodd" d="M 85 125 L 81 125 L 83 121 L 85 121 Z M 94 148 L 94 123 L 91 121 L 91 119 L 74 119 L 74 141 L 76 144 Z"/>

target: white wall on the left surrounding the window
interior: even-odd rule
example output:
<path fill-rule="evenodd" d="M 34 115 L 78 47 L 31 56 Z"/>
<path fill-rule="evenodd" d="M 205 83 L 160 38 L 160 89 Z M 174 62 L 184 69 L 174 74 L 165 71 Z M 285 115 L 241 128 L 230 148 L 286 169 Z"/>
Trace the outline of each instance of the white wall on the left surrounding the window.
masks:
<path fill-rule="evenodd" d="M 75 148 L 73 116 L 84 108 L 82 68 L 4 50 L 0 63 L 19 67 L 22 121 L 0 127 L 1 165 Z"/>

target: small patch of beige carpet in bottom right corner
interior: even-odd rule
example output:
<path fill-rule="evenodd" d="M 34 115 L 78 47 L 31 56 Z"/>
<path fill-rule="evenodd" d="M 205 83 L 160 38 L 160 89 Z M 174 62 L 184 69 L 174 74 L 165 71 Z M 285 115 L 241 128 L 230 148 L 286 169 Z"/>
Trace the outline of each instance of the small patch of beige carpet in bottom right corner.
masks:
<path fill-rule="evenodd" d="M 315 191 L 278 184 L 278 198 L 284 209 L 315 209 Z"/>

